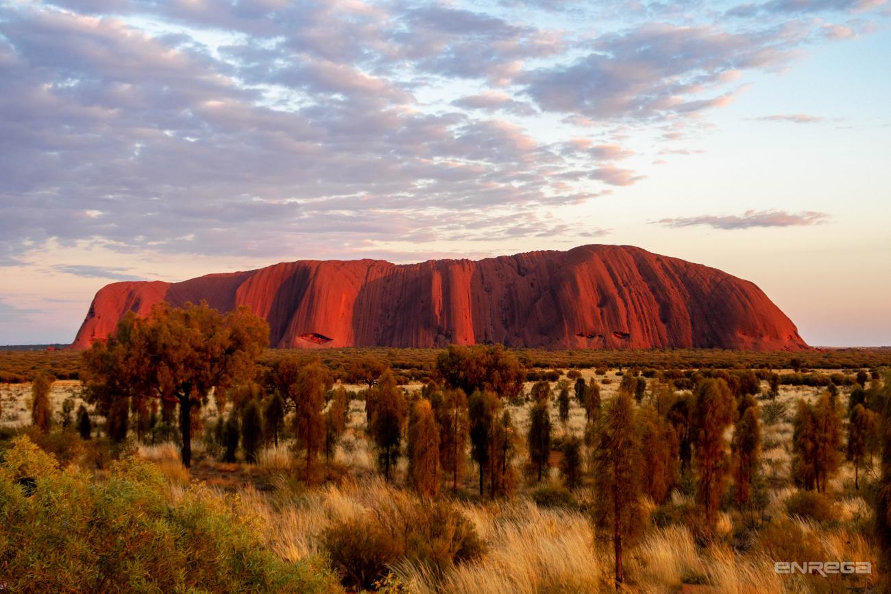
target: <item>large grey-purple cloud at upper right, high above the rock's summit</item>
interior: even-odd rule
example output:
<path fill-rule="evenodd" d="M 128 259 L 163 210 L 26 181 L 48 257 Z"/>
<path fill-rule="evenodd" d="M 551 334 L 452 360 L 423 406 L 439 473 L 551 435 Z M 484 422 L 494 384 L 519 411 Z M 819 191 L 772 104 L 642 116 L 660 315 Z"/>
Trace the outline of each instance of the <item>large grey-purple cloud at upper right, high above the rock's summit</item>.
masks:
<path fill-rule="evenodd" d="M 732 33 L 713 26 L 647 23 L 593 41 L 593 52 L 568 64 L 519 77 L 542 110 L 597 120 L 649 120 L 692 114 L 731 102 L 733 92 L 701 94 L 740 70 L 777 69 L 795 55 L 810 29 Z"/>

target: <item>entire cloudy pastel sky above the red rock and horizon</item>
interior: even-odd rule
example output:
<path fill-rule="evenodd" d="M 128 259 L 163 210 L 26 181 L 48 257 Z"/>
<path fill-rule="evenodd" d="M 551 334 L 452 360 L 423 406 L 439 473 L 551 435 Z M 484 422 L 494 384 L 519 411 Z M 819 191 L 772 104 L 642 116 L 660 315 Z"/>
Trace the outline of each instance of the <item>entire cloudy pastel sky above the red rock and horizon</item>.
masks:
<path fill-rule="evenodd" d="M 891 4 L 0 0 L 0 345 L 96 290 L 635 245 L 891 345 Z"/>

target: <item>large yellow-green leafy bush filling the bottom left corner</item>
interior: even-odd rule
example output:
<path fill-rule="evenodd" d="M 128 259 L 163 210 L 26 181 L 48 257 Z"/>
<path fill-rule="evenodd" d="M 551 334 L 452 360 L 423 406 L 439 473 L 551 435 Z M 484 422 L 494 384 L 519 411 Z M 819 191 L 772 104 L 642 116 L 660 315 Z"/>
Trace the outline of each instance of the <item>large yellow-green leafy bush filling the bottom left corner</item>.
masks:
<path fill-rule="evenodd" d="M 206 488 L 174 496 L 132 459 L 97 484 L 20 436 L 0 465 L 0 583 L 11 591 L 339 591 L 325 567 L 263 549 L 258 528 Z"/>

